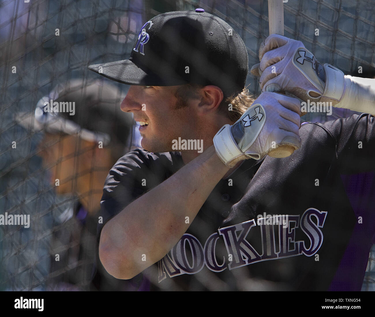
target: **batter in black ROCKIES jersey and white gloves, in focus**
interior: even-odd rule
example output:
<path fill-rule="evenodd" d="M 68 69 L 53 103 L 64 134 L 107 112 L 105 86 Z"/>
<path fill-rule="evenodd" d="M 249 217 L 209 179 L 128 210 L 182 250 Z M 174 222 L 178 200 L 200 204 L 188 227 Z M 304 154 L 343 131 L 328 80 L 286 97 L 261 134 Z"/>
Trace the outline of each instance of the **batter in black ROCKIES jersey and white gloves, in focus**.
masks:
<path fill-rule="evenodd" d="M 273 35 L 254 100 L 242 39 L 203 9 L 152 18 L 128 60 L 90 69 L 131 85 L 121 110 L 144 148 L 105 181 L 108 273 L 151 290 L 360 290 L 375 242 L 374 80 Z M 301 125 L 301 100 L 366 113 Z"/>

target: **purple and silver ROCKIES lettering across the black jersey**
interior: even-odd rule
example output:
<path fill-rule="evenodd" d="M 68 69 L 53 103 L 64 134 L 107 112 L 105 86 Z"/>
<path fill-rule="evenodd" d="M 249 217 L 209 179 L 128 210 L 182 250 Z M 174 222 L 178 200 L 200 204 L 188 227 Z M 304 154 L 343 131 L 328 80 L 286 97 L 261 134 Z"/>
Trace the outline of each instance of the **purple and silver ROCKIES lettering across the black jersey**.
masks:
<path fill-rule="evenodd" d="M 276 249 L 275 225 L 266 225 L 266 221 L 260 225 L 262 253 L 246 240 L 251 228 L 257 226 L 255 220 L 238 223 L 237 225 L 220 228 L 211 234 L 204 247 L 191 234 L 184 234 L 178 243 L 168 252 L 165 257 L 158 261 L 159 283 L 166 278 L 181 274 L 195 274 L 205 266 L 213 272 L 221 272 L 227 267 L 229 270 L 267 260 L 294 257 L 305 254 L 308 257 L 314 255 L 323 243 L 323 228 L 327 211 L 319 211 L 315 208 L 308 208 L 300 218 L 300 215 L 288 215 L 288 225 L 284 227 L 278 224 L 279 245 Z M 316 219 L 317 223 L 314 222 Z M 259 223 L 259 222 L 258 222 Z M 305 245 L 304 241 L 295 241 L 297 229 L 303 231 L 310 240 L 310 245 Z M 226 258 L 216 258 L 216 243 L 220 236 L 223 237 L 228 256 L 232 261 L 226 263 Z M 189 245 L 192 254 L 192 264 L 190 265 L 186 255 L 186 244 Z M 294 246 L 294 248 L 291 248 Z"/>

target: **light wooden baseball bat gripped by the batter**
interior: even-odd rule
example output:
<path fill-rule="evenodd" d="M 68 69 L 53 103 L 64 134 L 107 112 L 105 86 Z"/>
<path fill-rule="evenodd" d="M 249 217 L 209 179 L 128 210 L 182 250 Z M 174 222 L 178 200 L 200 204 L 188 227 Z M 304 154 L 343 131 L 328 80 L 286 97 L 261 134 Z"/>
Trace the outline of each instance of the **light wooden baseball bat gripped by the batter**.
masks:
<path fill-rule="evenodd" d="M 268 0 L 268 24 L 271 34 L 284 35 L 284 3 L 282 0 Z M 287 157 L 294 152 L 291 145 L 281 145 L 277 149 L 270 151 L 270 157 Z"/>

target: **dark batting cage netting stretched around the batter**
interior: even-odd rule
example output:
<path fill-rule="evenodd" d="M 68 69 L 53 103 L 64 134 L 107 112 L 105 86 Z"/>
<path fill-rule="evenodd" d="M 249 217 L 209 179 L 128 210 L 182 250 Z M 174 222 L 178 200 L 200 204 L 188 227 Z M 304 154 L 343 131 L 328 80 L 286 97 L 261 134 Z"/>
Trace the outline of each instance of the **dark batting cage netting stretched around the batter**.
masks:
<path fill-rule="evenodd" d="M 128 86 L 99 78 L 88 66 L 127 59 L 142 25 L 155 15 L 195 8 L 233 26 L 245 42 L 249 68 L 259 63 L 260 44 L 269 35 L 265 0 L 0 0 L 0 214 L 13 219 L 0 225 L 0 290 L 90 288 L 104 180 L 117 158 L 139 146 L 139 137 L 119 107 Z M 321 63 L 375 76 L 372 0 L 289 0 L 284 30 Z M 250 72 L 246 84 L 260 94 Z M 59 95 L 87 104 L 67 104 L 62 119 L 83 128 L 79 138 L 74 124 L 43 128 L 36 107 Z M 332 116 L 308 113 L 302 120 L 353 113 L 333 109 Z M 96 158 L 92 141 L 108 145 L 107 161 Z M 374 279 L 373 247 L 362 290 L 374 291 Z"/>

